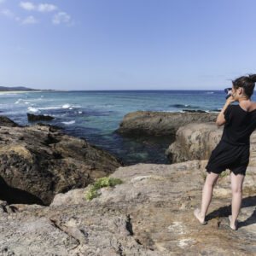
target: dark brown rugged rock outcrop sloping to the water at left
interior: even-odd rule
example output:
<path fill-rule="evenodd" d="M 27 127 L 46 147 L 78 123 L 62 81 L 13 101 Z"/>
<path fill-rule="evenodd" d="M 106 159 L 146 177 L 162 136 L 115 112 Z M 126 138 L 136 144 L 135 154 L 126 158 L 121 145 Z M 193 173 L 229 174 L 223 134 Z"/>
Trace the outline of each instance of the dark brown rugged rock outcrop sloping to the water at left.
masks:
<path fill-rule="evenodd" d="M 8 123 L 9 125 L 9 123 Z M 49 205 L 57 193 L 108 176 L 122 160 L 47 125 L 0 127 L 0 200 Z"/>

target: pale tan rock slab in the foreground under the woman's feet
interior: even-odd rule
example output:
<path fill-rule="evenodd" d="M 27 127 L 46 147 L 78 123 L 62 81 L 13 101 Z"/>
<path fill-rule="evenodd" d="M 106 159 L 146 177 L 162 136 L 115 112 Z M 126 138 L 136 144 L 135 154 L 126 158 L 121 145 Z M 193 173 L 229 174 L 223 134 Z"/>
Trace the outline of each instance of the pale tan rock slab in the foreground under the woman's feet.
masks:
<path fill-rule="evenodd" d="M 256 170 L 248 167 L 238 230 L 230 230 L 230 176 L 219 177 L 202 226 L 207 160 L 120 166 L 125 181 L 84 200 L 88 188 L 55 195 L 49 207 L 0 202 L 0 253 L 6 255 L 254 255 Z M 0 210 L 1 210 L 0 207 Z M 9 254 L 8 254 L 9 253 Z M 4 254 L 3 254 L 4 255 Z"/>

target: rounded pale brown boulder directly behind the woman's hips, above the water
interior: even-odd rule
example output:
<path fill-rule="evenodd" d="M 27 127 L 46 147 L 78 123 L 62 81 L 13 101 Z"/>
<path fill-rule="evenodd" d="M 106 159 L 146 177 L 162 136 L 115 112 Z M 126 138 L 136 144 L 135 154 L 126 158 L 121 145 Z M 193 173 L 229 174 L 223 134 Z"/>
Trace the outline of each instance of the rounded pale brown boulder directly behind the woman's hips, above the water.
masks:
<path fill-rule="evenodd" d="M 213 122 L 183 125 L 177 130 L 175 142 L 166 149 L 167 159 L 171 163 L 208 160 L 222 137 L 223 129 L 224 125 Z M 249 166 L 256 166 L 256 131 L 251 135 Z"/>

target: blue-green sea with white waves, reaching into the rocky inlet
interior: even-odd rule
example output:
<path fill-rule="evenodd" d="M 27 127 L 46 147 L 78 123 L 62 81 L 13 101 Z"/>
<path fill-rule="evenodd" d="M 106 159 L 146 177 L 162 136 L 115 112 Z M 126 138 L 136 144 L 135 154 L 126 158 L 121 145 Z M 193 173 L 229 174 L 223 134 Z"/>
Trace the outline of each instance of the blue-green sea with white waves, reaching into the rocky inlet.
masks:
<path fill-rule="evenodd" d="M 20 125 L 34 124 L 28 122 L 26 113 L 47 114 L 55 119 L 43 123 L 61 126 L 73 137 L 84 137 L 117 155 L 125 165 L 168 164 L 165 151 L 173 138 L 122 137 L 115 130 L 125 114 L 137 110 L 218 113 L 225 96 L 224 90 L 31 91 L 0 95 L 0 114 Z M 255 93 L 251 99 L 256 102 Z"/>

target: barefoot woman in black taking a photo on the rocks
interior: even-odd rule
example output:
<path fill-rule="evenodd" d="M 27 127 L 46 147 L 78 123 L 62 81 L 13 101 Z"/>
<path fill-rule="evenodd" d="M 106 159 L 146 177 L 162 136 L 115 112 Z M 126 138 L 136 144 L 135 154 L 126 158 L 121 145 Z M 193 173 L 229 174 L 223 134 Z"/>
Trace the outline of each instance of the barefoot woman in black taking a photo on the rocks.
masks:
<path fill-rule="evenodd" d="M 232 81 L 232 95 L 218 114 L 216 125 L 224 125 L 224 131 L 206 166 L 207 178 L 202 190 L 201 210 L 197 208 L 194 212 L 201 224 L 207 224 L 205 218 L 212 201 L 213 186 L 219 174 L 228 168 L 232 189 L 230 228 L 237 230 L 236 218 L 241 208 L 242 183 L 249 162 L 250 136 L 256 129 L 256 102 L 251 101 L 255 82 L 256 74 Z M 239 104 L 230 105 L 232 102 Z"/>

